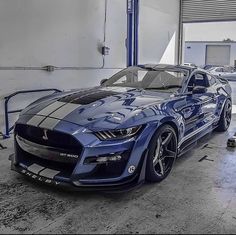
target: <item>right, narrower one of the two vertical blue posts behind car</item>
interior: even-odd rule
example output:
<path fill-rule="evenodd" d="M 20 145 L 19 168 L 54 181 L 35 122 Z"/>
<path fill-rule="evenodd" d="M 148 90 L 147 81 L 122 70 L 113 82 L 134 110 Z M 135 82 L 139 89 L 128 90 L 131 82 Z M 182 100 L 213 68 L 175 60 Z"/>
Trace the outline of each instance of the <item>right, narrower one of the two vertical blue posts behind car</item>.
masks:
<path fill-rule="evenodd" d="M 133 65 L 138 65 L 138 36 L 139 36 L 139 0 L 134 0 L 134 56 Z"/>

